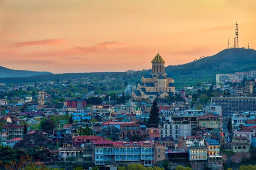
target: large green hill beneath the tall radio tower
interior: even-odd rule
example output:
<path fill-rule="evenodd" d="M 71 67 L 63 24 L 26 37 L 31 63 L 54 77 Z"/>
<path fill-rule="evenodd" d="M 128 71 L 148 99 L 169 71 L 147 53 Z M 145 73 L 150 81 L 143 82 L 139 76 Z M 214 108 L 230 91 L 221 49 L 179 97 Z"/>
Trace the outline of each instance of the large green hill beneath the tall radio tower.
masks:
<path fill-rule="evenodd" d="M 216 74 L 227 74 L 256 70 L 256 50 L 244 48 L 225 49 L 213 56 L 183 65 L 169 65 L 166 73 L 176 80 L 214 79 Z"/>

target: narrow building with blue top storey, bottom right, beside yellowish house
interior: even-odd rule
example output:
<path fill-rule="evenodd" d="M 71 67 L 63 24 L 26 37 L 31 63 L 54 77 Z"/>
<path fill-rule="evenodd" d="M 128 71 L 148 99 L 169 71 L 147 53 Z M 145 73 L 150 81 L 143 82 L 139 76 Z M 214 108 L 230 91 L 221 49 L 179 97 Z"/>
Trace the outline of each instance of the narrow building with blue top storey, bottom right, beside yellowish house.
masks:
<path fill-rule="evenodd" d="M 207 167 L 217 170 L 222 169 L 223 159 L 220 152 L 220 143 L 215 139 L 207 139 L 205 144 L 208 150 Z"/>

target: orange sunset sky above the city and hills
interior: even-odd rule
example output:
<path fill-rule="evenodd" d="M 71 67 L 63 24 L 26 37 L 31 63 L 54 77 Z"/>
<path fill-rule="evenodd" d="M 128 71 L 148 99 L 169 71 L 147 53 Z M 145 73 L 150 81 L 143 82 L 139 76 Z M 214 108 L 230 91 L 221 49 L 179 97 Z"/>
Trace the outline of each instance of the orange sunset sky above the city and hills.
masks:
<path fill-rule="evenodd" d="M 52 73 L 151 68 L 256 48 L 255 0 L 0 0 L 0 66 Z"/>

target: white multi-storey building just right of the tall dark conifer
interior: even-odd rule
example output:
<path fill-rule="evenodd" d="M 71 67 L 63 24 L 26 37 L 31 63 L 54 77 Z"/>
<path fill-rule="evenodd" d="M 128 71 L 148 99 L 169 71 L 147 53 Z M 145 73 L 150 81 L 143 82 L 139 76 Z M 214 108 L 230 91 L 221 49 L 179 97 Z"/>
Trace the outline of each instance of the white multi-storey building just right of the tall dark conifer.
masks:
<path fill-rule="evenodd" d="M 159 125 L 160 137 L 169 137 L 173 136 L 175 140 L 179 136 L 191 136 L 191 125 L 178 125 L 178 124 L 164 124 Z"/>

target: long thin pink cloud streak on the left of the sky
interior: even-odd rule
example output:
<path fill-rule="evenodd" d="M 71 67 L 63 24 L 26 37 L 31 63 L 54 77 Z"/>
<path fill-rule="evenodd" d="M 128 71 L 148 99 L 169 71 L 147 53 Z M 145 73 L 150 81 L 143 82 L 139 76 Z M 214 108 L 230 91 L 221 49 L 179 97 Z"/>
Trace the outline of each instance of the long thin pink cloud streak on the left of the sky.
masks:
<path fill-rule="evenodd" d="M 65 40 L 62 40 L 62 39 L 27 41 L 27 42 L 15 43 L 14 45 L 12 45 L 12 47 L 26 47 L 26 46 L 34 46 L 34 45 L 60 45 L 64 42 L 65 42 Z"/>

